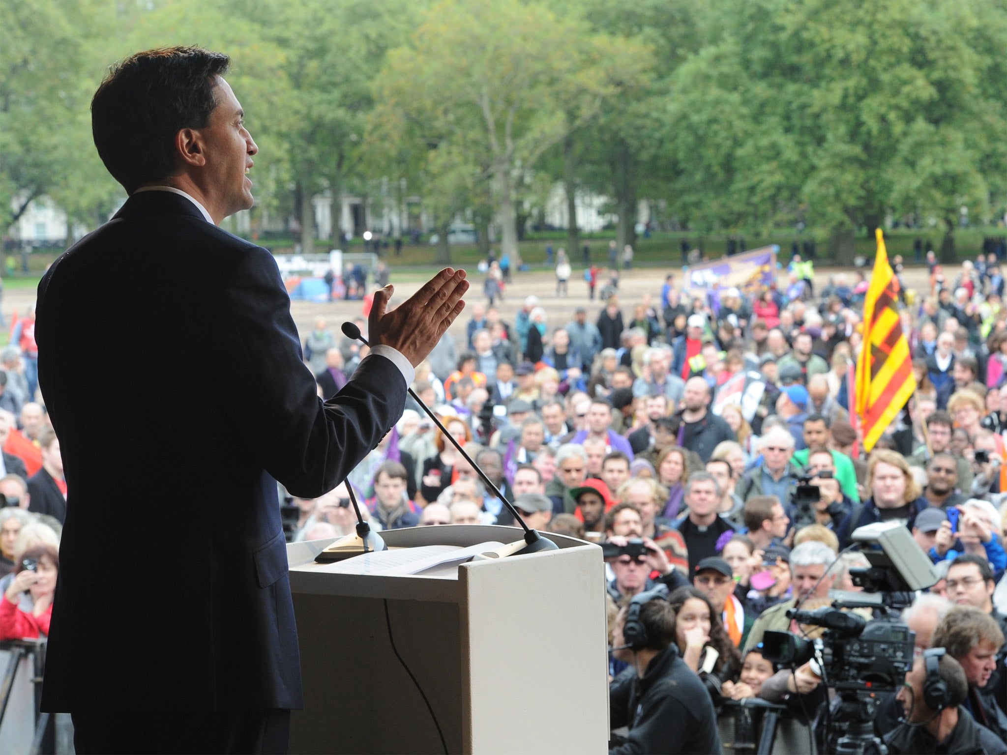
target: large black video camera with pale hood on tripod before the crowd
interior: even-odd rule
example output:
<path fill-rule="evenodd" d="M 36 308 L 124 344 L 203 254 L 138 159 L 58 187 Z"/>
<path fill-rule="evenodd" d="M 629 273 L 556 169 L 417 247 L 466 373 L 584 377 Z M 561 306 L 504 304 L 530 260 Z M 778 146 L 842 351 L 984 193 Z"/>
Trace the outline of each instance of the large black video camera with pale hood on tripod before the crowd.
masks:
<path fill-rule="evenodd" d="M 853 584 L 864 592 L 846 593 L 850 599 L 833 607 L 802 611 L 799 605 L 786 612 L 799 624 L 824 627 L 820 639 L 777 631 L 762 638 L 763 657 L 790 668 L 815 661 L 813 670 L 836 691 L 825 732 L 827 752 L 862 753 L 867 745 L 880 745 L 873 729 L 878 694 L 896 692 L 912 668 L 915 633 L 901 622 L 899 611 L 912 602 L 913 591 L 938 582 L 929 558 L 904 524 L 868 524 L 852 537 L 865 546 L 861 552 L 870 563 L 850 570 Z M 869 608 L 872 619 L 844 608 Z"/>

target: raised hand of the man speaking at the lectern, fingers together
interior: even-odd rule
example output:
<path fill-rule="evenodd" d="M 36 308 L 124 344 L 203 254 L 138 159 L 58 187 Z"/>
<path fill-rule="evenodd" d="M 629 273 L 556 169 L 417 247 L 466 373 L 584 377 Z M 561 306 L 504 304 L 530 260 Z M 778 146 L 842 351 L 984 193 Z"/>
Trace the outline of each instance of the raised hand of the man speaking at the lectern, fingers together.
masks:
<path fill-rule="evenodd" d="M 369 318 L 371 345 L 392 346 L 413 366 L 418 365 L 465 308 L 461 297 L 467 290 L 464 270 L 444 268 L 407 301 L 387 312 L 395 289 L 391 285 L 378 289 Z"/>

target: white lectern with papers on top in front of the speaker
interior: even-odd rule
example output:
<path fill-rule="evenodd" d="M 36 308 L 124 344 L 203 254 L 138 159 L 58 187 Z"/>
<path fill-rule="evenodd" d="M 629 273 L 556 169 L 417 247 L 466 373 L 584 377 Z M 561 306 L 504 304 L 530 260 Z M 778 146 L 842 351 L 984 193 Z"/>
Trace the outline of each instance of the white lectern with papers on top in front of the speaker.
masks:
<path fill-rule="evenodd" d="M 512 543 L 508 526 L 382 533 L 390 548 Z M 602 753 L 608 683 L 601 549 L 462 564 L 437 576 L 328 574 L 331 541 L 287 547 L 304 710 L 291 753 Z M 388 615 L 386 616 L 386 601 Z M 391 625 L 391 627 L 390 627 Z"/>

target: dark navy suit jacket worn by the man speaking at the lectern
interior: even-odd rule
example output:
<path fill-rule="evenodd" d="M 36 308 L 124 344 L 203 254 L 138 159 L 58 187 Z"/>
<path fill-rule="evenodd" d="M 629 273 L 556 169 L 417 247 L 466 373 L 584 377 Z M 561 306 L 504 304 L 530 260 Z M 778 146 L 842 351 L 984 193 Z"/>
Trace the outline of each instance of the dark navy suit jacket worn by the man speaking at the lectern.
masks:
<path fill-rule="evenodd" d="M 401 416 L 402 373 L 369 356 L 318 399 L 272 255 L 164 191 L 53 263 L 35 333 L 69 487 L 45 710 L 299 708 L 276 483 L 335 487 Z"/>

